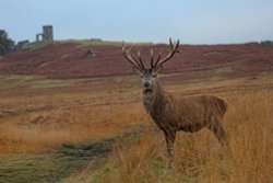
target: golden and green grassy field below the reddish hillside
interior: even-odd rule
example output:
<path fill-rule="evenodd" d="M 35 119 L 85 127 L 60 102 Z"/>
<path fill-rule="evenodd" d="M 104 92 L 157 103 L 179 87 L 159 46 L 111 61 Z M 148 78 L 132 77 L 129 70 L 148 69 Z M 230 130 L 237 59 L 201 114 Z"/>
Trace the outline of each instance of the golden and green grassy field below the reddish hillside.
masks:
<path fill-rule="evenodd" d="M 223 148 L 206 129 L 179 133 L 167 169 L 162 131 L 142 106 L 136 77 L 49 80 L 0 77 L 0 182 L 273 182 L 273 76 L 185 83 L 167 91 L 225 99 Z"/>

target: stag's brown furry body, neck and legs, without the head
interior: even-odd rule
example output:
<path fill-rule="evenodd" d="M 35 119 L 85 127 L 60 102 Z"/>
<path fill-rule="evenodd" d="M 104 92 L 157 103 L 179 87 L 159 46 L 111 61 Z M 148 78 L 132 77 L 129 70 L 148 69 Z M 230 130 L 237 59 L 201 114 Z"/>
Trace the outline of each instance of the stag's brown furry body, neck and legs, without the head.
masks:
<path fill-rule="evenodd" d="M 180 96 L 161 89 L 156 80 L 151 89 L 143 89 L 143 102 L 146 112 L 163 130 L 167 151 L 173 157 L 173 145 L 179 130 L 194 133 L 207 127 L 222 145 L 227 145 L 222 119 L 227 104 L 213 95 Z"/>

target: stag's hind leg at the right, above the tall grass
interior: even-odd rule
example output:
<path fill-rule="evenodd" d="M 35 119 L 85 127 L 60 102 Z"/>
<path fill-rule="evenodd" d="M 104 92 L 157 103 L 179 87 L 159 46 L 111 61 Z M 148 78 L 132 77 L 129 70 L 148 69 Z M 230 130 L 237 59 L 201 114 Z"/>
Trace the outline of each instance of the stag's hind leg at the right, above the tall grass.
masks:
<path fill-rule="evenodd" d="M 227 134 L 222 127 L 221 122 L 222 119 L 212 116 L 211 123 L 207 125 L 207 128 L 214 133 L 214 135 L 216 136 L 222 146 L 227 146 L 228 145 Z"/>

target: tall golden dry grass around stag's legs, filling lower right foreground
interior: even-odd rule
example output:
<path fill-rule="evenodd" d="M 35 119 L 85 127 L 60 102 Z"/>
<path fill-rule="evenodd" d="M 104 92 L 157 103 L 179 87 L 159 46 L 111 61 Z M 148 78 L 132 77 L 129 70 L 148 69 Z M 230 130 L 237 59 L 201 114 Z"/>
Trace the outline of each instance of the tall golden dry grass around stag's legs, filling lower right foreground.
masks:
<path fill-rule="evenodd" d="M 175 145 L 175 168 L 167 169 L 162 133 L 151 127 L 140 139 L 116 147 L 100 171 L 87 182 L 273 182 L 273 92 L 252 90 L 227 93 L 224 127 L 229 147 L 221 147 L 207 129 L 179 133 Z M 154 126 L 154 125 L 152 125 Z"/>

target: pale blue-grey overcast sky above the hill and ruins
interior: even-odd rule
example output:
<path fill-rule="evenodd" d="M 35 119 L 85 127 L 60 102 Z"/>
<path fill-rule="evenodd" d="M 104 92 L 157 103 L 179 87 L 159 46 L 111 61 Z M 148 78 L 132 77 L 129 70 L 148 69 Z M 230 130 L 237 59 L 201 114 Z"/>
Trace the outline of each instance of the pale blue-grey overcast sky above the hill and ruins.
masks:
<path fill-rule="evenodd" d="M 224 44 L 273 39 L 273 0 L 0 0 L 0 28 L 35 41 L 43 25 L 56 39 Z"/>

